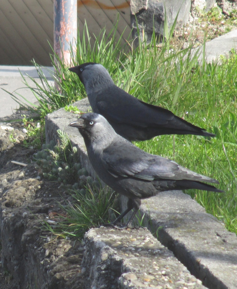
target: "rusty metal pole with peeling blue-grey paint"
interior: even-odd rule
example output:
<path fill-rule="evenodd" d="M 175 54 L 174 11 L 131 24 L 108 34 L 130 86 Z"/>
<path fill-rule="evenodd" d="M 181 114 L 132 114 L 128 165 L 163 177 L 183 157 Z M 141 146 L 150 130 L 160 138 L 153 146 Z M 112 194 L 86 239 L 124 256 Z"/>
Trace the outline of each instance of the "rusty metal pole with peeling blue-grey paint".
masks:
<path fill-rule="evenodd" d="M 70 44 L 75 51 L 76 40 L 77 0 L 54 0 L 54 51 L 67 66 L 71 65 Z"/>

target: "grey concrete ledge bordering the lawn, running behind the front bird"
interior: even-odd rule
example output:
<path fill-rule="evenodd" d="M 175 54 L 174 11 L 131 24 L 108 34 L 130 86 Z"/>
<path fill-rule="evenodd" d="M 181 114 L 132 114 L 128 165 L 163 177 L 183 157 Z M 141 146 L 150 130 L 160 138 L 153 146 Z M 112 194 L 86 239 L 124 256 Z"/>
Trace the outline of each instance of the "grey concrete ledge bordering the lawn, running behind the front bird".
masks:
<path fill-rule="evenodd" d="M 82 111 L 88 111 L 87 100 L 75 105 Z M 72 145 L 78 148 L 82 165 L 95 176 L 82 137 L 75 128 L 68 127 L 76 118 L 76 114 L 64 109 L 49 114 L 45 125 L 46 141 L 57 139 L 58 128 L 66 131 Z M 122 200 L 122 206 L 125 204 L 126 200 Z M 213 289 L 237 288 L 237 236 L 207 214 L 190 196 L 181 191 L 162 192 L 143 200 L 140 212 L 145 214 L 144 222 L 149 228 L 153 231 L 159 229 L 159 241 L 173 251 L 205 286 Z M 119 231 L 118 234 L 123 233 Z"/>

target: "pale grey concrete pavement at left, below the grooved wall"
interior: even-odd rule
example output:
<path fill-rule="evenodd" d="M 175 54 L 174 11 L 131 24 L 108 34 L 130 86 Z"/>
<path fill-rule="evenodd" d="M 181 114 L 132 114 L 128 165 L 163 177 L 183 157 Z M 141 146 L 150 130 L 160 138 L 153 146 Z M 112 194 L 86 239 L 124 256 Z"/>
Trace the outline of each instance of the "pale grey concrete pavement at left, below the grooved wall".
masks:
<path fill-rule="evenodd" d="M 13 93 L 16 96 L 18 96 L 17 94 L 20 94 L 25 97 L 30 103 L 35 103 L 37 99 L 31 92 L 31 90 L 29 88 L 26 88 L 25 84 L 23 84 L 23 79 L 21 77 L 20 71 L 32 87 L 35 87 L 36 85 L 30 79 L 30 77 L 34 77 L 37 83 L 41 83 L 41 80 L 34 66 L 0 65 L 0 88 L 3 88 L 4 90 Z M 45 67 L 42 68 L 42 71 L 47 77 L 48 81 L 50 81 L 50 83 L 54 85 L 54 81 L 52 78 L 52 73 L 54 73 L 53 68 Z M 50 71 L 52 71 L 52 73 Z M 27 77 L 27 75 L 29 75 L 30 77 Z M 0 89 L 0 118 L 10 116 L 19 108 L 19 104 L 14 99 L 12 99 L 9 93 L 5 92 L 3 89 Z M 26 102 L 21 97 L 19 97 L 19 99 L 22 100 L 24 103 Z"/>

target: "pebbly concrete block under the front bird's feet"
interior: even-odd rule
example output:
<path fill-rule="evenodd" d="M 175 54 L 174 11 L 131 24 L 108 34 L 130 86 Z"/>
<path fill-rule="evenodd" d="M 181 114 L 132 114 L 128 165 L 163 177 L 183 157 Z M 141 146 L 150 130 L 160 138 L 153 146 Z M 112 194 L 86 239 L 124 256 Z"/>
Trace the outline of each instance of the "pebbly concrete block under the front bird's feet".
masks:
<path fill-rule="evenodd" d="M 81 266 L 88 289 L 206 288 L 146 228 L 91 229 L 84 243 Z"/>

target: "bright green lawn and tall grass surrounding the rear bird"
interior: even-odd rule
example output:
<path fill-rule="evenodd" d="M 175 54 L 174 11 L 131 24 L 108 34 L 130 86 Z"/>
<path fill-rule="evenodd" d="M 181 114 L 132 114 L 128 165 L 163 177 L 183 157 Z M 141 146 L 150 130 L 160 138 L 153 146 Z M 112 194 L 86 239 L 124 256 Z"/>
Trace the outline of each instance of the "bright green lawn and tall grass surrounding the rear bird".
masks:
<path fill-rule="evenodd" d="M 185 120 L 216 133 L 215 138 L 174 136 L 174 147 L 173 136 L 158 136 L 136 145 L 149 153 L 174 158 L 180 165 L 218 179 L 218 188 L 225 193 L 198 190 L 187 193 L 207 212 L 224 221 L 227 229 L 237 233 L 237 55 L 232 52 L 221 65 L 207 64 L 203 60 L 199 66 L 198 53 L 191 56 L 191 47 L 182 50 L 171 47 L 173 28 L 169 33 L 165 24 L 167 41 L 162 47 L 156 46 L 153 37 L 151 44 L 140 41 L 137 48 L 131 46 L 123 51 L 121 43 L 114 40 L 116 27 L 109 38 L 102 30 L 95 46 L 91 47 L 86 45 L 89 36 L 85 26 L 82 42 L 78 37 L 77 54 L 72 53 L 72 65 L 99 62 L 108 69 L 115 84 L 135 97 L 161 105 Z M 85 97 L 78 77 L 60 61 L 59 67 L 55 80 L 60 86 L 60 93 L 48 86 L 38 87 L 37 95 L 43 100 L 34 109 L 41 117 Z M 34 89 L 32 91 L 36 93 Z"/>

